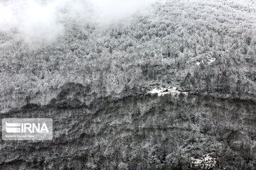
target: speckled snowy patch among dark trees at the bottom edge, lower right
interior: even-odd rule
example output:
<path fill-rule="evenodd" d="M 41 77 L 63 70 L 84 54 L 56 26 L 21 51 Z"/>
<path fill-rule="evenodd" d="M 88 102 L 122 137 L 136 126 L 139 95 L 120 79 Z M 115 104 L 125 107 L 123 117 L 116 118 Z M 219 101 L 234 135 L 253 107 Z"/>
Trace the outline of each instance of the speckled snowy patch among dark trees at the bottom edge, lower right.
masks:
<path fill-rule="evenodd" d="M 209 154 L 206 154 L 204 157 L 201 158 L 193 158 L 191 157 L 191 162 L 195 165 L 195 166 L 204 166 L 207 169 L 211 169 L 214 168 L 216 166 L 216 159 L 213 157 L 210 157 Z"/>

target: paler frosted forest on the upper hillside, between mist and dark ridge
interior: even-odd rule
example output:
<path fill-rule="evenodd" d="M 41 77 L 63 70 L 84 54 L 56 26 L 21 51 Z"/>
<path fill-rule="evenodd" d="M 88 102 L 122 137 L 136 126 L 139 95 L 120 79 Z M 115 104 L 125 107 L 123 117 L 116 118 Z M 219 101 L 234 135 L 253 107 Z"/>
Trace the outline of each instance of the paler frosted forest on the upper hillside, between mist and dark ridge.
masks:
<path fill-rule="evenodd" d="M 65 35 L 50 45 L 1 33 L 1 94 L 33 99 L 75 82 L 103 96 L 151 84 L 254 96 L 253 1 L 166 1 L 149 9 L 107 26 L 66 18 Z"/>

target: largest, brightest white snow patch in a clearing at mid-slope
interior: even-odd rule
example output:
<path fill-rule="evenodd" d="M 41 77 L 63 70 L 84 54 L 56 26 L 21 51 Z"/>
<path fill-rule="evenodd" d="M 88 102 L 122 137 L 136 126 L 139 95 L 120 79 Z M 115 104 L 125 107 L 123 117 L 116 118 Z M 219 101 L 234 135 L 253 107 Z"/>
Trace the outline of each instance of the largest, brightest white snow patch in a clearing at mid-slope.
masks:
<path fill-rule="evenodd" d="M 164 88 L 164 87 L 159 87 L 159 88 L 154 88 L 151 91 L 148 92 L 149 94 L 158 94 L 158 96 L 164 96 L 166 94 L 171 94 L 172 96 L 177 96 L 180 94 L 188 95 L 188 92 L 182 92 L 178 91 L 177 87 L 170 87 L 170 88 Z"/>

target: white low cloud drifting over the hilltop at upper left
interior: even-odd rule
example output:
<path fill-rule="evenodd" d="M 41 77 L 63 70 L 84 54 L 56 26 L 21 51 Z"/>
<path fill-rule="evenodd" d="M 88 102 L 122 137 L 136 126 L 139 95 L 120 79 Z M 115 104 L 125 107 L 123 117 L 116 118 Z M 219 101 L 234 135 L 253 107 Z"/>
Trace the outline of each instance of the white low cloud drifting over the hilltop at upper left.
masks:
<path fill-rule="evenodd" d="M 53 41 L 66 18 L 102 25 L 119 21 L 154 0 L 9 0 L 0 1 L 0 32 L 15 32 L 26 42 Z"/>

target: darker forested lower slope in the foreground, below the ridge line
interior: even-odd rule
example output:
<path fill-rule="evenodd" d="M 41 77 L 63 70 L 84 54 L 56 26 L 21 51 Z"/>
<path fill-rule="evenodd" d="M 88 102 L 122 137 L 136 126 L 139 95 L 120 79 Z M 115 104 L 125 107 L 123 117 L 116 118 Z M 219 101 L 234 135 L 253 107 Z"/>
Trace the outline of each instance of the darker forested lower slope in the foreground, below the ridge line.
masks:
<path fill-rule="evenodd" d="M 1 141 L 1 169 L 192 169 L 205 157 L 212 164 L 194 169 L 256 165 L 255 101 L 131 92 L 85 103 L 87 87 L 68 84 L 48 106 L 2 114 L 53 118 L 54 129 L 53 141 Z"/>

